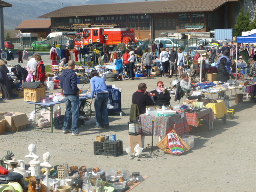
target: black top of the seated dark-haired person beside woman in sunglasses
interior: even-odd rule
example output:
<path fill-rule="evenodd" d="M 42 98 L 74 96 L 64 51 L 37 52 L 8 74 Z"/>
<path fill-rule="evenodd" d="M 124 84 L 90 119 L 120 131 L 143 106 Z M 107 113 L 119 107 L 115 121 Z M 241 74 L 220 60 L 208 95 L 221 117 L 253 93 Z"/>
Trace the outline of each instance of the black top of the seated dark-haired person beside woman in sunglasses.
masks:
<path fill-rule="evenodd" d="M 136 91 L 132 95 L 132 103 L 137 104 L 140 109 L 140 114 L 146 113 L 146 106 L 154 105 L 153 100 L 147 94 Z"/>

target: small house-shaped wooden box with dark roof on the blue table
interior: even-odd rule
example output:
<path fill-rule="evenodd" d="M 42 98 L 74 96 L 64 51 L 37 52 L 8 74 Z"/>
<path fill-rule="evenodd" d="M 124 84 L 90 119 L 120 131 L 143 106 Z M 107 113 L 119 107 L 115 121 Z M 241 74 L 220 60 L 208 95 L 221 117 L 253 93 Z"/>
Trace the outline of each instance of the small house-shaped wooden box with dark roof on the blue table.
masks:
<path fill-rule="evenodd" d="M 46 98 L 46 87 L 40 82 L 25 82 L 22 85 L 24 89 L 24 101 L 40 102 Z"/>

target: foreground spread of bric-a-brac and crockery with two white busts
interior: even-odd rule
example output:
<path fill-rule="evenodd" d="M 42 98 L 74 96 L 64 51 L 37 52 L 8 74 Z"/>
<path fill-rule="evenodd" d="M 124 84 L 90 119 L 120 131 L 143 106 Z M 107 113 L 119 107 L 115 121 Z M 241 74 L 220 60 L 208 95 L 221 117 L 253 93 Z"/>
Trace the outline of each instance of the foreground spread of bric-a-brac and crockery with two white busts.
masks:
<path fill-rule="evenodd" d="M 128 192 L 148 178 L 140 172 L 78 167 L 68 162 L 53 166 L 49 152 L 41 160 L 36 155 L 35 144 L 30 144 L 28 150 L 24 157 L 30 159 L 28 165 L 24 160 L 12 158 L 14 154 L 10 150 L 0 161 L 1 192 Z"/>

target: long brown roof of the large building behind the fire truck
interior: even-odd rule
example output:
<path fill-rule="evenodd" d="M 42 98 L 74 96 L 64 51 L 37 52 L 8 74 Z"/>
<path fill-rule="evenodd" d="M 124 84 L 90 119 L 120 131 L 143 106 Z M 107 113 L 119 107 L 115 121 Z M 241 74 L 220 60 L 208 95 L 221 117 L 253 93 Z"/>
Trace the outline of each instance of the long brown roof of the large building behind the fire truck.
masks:
<path fill-rule="evenodd" d="M 168 0 L 148 1 L 115 4 L 94 4 L 66 6 L 39 16 L 38 18 L 98 16 L 98 15 L 123 15 L 123 14 L 153 14 L 172 12 L 210 12 L 214 11 L 226 2 L 238 0 Z"/>

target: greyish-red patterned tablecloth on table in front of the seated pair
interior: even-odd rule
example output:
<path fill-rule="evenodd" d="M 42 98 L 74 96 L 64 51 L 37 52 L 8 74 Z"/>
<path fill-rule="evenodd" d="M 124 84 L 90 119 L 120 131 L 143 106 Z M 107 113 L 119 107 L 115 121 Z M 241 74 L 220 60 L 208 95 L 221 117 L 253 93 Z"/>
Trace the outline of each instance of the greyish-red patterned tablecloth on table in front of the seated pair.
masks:
<path fill-rule="evenodd" d="M 178 135 L 189 132 L 188 122 L 184 112 L 169 117 L 142 114 L 139 117 L 142 136 L 152 135 L 152 120 L 154 120 L 154 136 L 165 136 L 174 128 Z M 176 124 L 175 127 L 174 124 Z"/>

